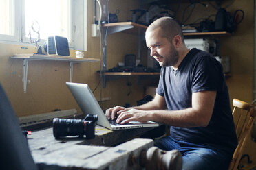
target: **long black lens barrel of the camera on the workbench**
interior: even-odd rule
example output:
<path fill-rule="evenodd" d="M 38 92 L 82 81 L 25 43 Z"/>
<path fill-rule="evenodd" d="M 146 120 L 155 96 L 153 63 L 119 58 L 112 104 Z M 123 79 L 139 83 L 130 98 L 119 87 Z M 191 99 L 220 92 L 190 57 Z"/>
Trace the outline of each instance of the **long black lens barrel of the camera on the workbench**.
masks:
<path fill-rule="evenodd" d="M 86 121 L 79 119 L 53 120 L 53 134 L 55 138 L 61 136 L 83 136 L 86 130 Z"/>

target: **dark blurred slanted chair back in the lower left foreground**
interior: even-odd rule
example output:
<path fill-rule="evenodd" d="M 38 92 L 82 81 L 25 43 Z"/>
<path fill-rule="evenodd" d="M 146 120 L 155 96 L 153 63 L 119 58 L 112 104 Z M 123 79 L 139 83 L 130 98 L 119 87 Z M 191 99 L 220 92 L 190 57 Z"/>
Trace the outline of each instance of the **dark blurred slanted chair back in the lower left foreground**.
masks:
<path fill-rule="evenodd" d="M 36 170 L 25 136 L 0 84 L 0 169 Z"/>

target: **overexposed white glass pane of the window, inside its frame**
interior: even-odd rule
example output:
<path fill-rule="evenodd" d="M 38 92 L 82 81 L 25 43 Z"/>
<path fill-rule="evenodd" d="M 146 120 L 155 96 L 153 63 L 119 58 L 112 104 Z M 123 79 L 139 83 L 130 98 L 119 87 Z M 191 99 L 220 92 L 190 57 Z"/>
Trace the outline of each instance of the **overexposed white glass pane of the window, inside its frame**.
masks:
<path fill-rule="evenodd" d="M 58 35 L 71 40 L 70 16 L 70 0 L 25 0 L 25 35 L 31 32 L 32 38 L 36 38 L 31 29 L 34 23 L 35 27 L 39 25 L 42 39 Z"/>

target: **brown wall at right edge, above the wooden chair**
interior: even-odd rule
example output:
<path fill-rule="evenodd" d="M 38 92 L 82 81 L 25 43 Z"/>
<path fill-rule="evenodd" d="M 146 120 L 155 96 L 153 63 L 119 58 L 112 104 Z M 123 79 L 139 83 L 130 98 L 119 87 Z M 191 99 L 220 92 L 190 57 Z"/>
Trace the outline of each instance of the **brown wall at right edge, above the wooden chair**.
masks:
<path fill-rule="evenodd" d="M 234 12 L 242 9 L 244 21 L 238 25 L 235 34 L 222 38 L 221 52 L 231 57 L 231 78 L 227 80 L 230 98 L 237 98 L 248 103 L 253 101 L 253 23 L 254 1 L 234 1 L 227 8 Z"/>

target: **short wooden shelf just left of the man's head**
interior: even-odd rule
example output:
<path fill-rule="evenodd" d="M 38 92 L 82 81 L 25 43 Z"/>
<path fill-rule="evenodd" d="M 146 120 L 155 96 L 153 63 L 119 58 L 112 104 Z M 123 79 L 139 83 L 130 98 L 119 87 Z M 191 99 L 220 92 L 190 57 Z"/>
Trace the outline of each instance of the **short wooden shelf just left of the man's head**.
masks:
<path fill-rule="evenodd" d="M 116 32 L 125 32 L 129 34 L 139 34 L 145 32 L 147 29 L 146 25 L 133 23 L 133 22 L 120 22 L 120 23 L 106 23 L 103 25 L 105 29 L 108 29 L 108 34 Z"/>

